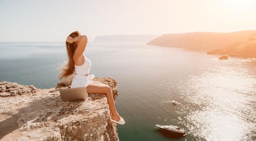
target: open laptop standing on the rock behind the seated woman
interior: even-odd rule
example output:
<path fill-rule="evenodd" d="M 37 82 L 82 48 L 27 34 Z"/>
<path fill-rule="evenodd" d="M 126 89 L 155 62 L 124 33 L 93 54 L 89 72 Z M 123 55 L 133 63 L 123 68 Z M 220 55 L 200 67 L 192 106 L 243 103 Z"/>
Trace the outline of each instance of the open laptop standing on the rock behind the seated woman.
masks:
<path fill-rule="evenodd" d="M 88 98 L 86 87 L 76 87 L 59 90 L 62 102 L 85 100 Z"/>

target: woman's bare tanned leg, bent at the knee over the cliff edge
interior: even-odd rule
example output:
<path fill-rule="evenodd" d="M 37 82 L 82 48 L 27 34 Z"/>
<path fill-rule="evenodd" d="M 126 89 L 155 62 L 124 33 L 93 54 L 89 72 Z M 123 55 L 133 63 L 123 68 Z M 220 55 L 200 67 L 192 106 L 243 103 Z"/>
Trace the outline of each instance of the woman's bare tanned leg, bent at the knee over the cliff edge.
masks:
<path fill-rule="evenodd" d="M 112 113 L 112 119 L 119 121 L 120 117 L 119 114 L 116 112 L 116 108 L 114 105 L 114 98 L 112 95 L 111 88 L 106 84 L 99 84 L 99 83 L 90 83 L 87 87 L 87 93 L 104 93 L 108 99 L 108 105 L 110 112 Z"/>

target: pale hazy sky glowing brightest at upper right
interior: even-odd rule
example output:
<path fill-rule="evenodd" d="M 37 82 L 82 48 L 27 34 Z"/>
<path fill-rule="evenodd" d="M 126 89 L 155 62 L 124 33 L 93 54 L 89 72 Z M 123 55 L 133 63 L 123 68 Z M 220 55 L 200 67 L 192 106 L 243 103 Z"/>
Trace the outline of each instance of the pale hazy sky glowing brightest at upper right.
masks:
<path fill-rule="evenodd" d="M 256 29 L 256 0 L 0 0 L 0 41 Z"/>

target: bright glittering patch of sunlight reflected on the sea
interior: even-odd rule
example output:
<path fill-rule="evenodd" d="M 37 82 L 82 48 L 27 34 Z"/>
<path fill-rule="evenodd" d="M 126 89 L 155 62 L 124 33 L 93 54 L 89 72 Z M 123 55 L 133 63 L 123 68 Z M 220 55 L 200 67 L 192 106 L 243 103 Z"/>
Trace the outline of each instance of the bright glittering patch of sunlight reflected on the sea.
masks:
<path fill-rule="evenodd" d="M 183 124 L 195 137 L 207 141 L 251 139 L 256 130 L 256 111 L 251 104 L 256 102 L 256 79 L 245 68 L 207 69 L 190 75 L 179 87 L 188 102 L 177 111 L 186 115 Z"/>

